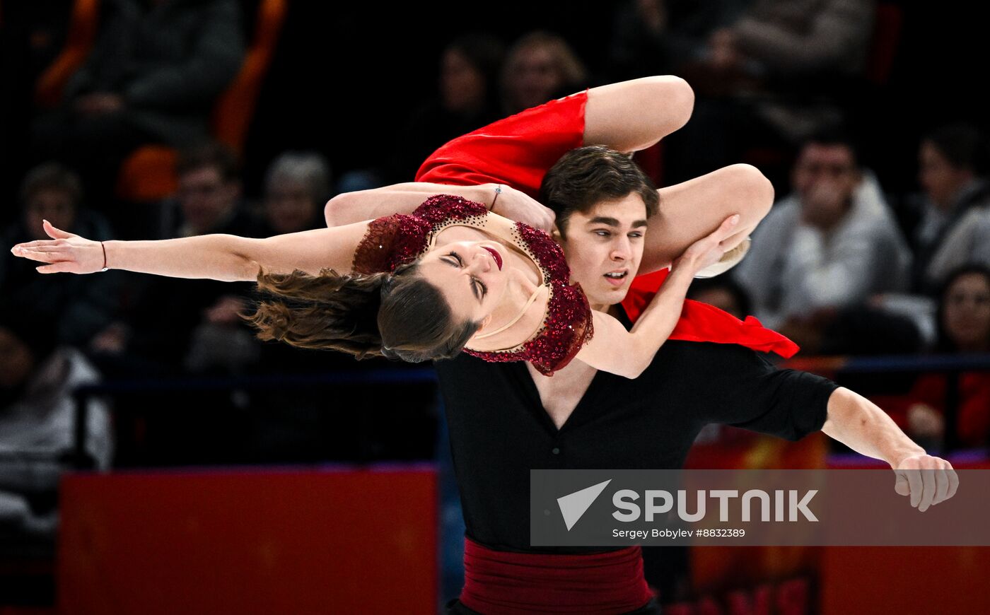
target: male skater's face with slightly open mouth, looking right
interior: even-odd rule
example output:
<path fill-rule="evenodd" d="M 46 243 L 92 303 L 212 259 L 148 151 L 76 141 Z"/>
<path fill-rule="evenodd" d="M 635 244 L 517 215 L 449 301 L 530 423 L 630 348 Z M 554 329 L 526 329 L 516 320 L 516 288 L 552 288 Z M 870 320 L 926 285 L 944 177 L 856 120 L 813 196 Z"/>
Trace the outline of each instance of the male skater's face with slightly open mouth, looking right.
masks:
<path fill-rule="evenodd" d="M 645 233 L 646 205 L 636 193 L 570 215 L 561 246 L 571 279 L 581 284 L 592 309 L 607 311 L 626 298 L 643 258 Z"/>

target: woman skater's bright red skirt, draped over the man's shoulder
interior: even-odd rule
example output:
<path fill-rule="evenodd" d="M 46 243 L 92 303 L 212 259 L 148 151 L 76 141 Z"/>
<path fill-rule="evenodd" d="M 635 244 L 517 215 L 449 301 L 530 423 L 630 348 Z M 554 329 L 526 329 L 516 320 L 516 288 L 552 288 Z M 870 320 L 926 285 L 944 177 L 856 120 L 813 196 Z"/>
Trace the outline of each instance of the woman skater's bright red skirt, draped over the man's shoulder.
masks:
<path fill-rule="evenodd" d="M 504 183 L 536 197 L 546 171 L 563 154 L 584 145 L 584 108 L 579 92 L 489 124 L 447 143 L 423 162 L 416 181 L 470 186 Z M 656 294 L 666 271 L 638 276 L 623 301 L 636 322 Z M 711 305 L 685 301 L 671 340 L 739 344 L 788 359 L 798 346 L 764 328 L 752 316 L 744 321 Z"/>

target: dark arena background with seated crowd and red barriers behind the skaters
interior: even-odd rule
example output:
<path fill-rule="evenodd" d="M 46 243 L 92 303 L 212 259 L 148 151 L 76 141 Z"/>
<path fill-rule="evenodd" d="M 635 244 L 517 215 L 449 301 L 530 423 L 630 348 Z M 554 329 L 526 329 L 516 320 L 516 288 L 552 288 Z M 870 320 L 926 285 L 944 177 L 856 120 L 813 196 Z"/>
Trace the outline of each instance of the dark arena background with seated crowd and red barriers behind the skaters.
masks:
<path fill-rule="evenodd" d="M 445 613 L 464 522 L 430 362 L 261 342 L 239 316 L 251 283 L 42 275 L 7 251 L 48 239 L 42 219 L 96 241 L 320 228 L 330 198 L 413 181 L 449 139 L 649 75 L 696 96 L 683 129 L 636 154 L 658 187 L 746 162 L 776 193 L 747 256 L 775 251 L 758 255 L 772 266 L 743 259 L 688 296 L 756 316 L 802 348 L 780 366 L 868 397 L 957 469 L 987 469 L 980 15 L 0 0 L 0 615 Z M 805 273 L 788 225 L 770 224 L 786 207 L 834 242 Z M 886 464 L 821 433 L 713 425 L 687 467 Z M 986 613 L 988 570 L 988 547 L 644 548 L 672 615 Z"/>

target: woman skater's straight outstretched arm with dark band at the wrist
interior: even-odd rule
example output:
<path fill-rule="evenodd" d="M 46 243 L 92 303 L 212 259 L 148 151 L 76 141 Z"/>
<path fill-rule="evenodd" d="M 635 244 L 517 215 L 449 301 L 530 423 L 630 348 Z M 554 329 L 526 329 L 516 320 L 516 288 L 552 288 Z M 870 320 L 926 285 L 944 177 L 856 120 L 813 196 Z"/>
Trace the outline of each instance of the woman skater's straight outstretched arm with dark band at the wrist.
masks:
<path fill-rule="evenodd" d="M 354 251 L 367 231 L 360 222 L 334 229 L 317 229 L 248 239 L 235 235 L 202 235 L 159 241 L 94 242 L 52 227 L 50 240 L 18 244 L 11 253 L 40 262 L 42 273 L 92 273 L 104 266 L 168 277 L 253 281 L 260 268 L 268 272 L 323 268 L 349 271 Z"/>

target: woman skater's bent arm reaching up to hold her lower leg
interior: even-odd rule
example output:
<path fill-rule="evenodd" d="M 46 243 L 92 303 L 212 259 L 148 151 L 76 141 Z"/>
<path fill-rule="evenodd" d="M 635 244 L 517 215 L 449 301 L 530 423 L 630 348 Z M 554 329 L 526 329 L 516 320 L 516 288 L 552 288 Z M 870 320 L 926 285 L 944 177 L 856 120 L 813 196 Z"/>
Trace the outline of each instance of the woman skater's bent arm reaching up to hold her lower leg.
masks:
<path fill-rule="evenodd" d="M 608 314 L 593 312 L 595 334 L 577 359 L 602 371 L 639 377 L 677 325 L 695 273 L 717 262 L 726 252 L 726 240 L 735 235 L 739 222 L 738 215 L 727 218 L 714 233 L 692 244 L 673 262 L 670 274 L 632 330 L 626 331 Z"/>

